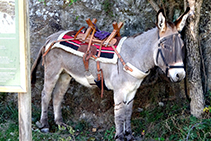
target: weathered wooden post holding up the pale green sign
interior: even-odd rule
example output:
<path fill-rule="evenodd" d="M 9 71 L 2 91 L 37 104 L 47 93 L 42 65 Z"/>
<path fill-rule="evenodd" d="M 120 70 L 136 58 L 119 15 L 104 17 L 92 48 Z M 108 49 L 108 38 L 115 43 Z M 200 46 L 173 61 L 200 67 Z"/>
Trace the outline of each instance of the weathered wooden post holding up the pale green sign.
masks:
<path fill-rule="evenodd" d="M 28 1 L 19 1 L 19 18 L 23 21 L 19 26 L 20 33 L 20 44 L 24 48 L 25 54 L 25 71 L 26 76 L 26 92 L 18 93 L 18 118 L 19 118 L 19 140 L 20 141 L 31 141 L 32 130 L 31 130 L 31 77 L 30 77 L 30 44 L 29 44 L 29 17 L 28 17 Z"/>

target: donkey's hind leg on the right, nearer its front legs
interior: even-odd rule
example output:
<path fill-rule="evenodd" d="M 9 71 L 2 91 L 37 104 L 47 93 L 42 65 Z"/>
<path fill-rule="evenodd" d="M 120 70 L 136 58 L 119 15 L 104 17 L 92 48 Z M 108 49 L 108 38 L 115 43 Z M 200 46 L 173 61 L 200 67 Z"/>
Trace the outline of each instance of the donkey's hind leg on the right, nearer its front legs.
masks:
<path fill-rule="evenodd" d="M 72 77 L 66 72 L 61 73 L 53 91 L 54 120 L 57 125 L 64 125 L 61 113 L 61 103 L 68 89 L 71 78 Z"/>

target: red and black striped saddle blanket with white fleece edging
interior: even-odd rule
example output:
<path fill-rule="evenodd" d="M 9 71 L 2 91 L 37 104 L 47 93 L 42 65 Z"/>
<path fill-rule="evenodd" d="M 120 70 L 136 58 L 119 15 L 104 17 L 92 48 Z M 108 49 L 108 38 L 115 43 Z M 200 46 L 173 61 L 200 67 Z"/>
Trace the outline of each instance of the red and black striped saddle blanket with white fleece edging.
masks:
<path fill-rule="evenodd" d="M 65 31 L 63 32 L 57 40 L 60 40 L 60 39 L 72 39 L 74 38 L 74 35 L 69 35 L 68 33 L 70 33 L 72 31 Z M 121 47 L 122 47 L 122 43 L 124 42 L 124 40 L 126 39 L 126 37 L 123 37 L 120 39 L 119 41 L 119 44 L 117 46 L 115 46 L 116 50 L 120 53 L 120 50 L 121 50 Z M 45 51 L 49 48 L 51 43 L 48 43 L 46 45 L 46 48 L 45 48 Z M 88 43 L 82 43 L 78 40 L 71 40 L 71 41 L 63 41 L 63 42 L 57 42 L 55 43 L 51 49 L 53 48 L 61 48 L 67 52 L 70 52 L 70 53 L 73 53 L 75 55 L 78 55 L 80 57 L 83 57 L 84 53 L 83 52 L 80 52 L 80 51 L 77 51 L 78 48 L 81 46 L 81 45 L 88 45 Z M 99 51 L 99 47 L 100 45 L 98 44 L 93 44 L 94 46 L 97 47 L 97 53 L 96 55 L 98 54 L 98 51 Z M 92 58 L 92 57 L 91 57 Z M 94 58 L 92 58 L 94 59 Z M 114 52 L 114 50 L 112 49 L 112 47 L 102 47 L 101 49 L 101 55 L 99 58 L 96 59 L 96 61 L 100 61 L 100 62 L 103 62 L 103 63 L 112 63 L 112 64 L 116 64 L 117 63 L 117 59 L 118 59 L 118 56 L 116 55 L 116 53 Z"/>

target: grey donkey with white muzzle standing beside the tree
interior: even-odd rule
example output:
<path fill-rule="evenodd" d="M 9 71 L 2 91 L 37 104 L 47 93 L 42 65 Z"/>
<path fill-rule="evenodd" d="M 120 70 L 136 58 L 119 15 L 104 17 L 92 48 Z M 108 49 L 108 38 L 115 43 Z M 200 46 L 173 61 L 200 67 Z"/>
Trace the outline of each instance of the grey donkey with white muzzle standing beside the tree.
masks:
<path fill-rule="evenodd" d="M 128 37 L 122 43 L 120 55 L 129 62 L 134 74 L 128 73 L 118 59 L 116 64 L 101 63 L 104 72 L 104 82 L 108 89 L 114 92 L 114 120 L 117 141 L 134 140 L 131 131 L 131 114 L 133 99 L 144 77 L 155 66 L 161 68 L 172 82 L 184 79 L 182 48 L 184 46 L 179 32 L 185 26 L 190 8 L 187 8 L 174 23 L 167 22 L 164 10 L 157 13 L 156 27 L 138 36 Z M 31 75 L 35 81 L 37 65 L 44 48 L 57 40 L 64 31 L 48 37 L 46 44 L 40 49 L 35 60 Z M 65 125 L 61 114 L 61 102 L 68 89 L 71 78 L 87 87 L 92 87 L 85 78 L 85 68 L 82 57 L 68 53 L 60 48 L 53 48 L 43 58 L 45 78 L 42 91 L 42 113 L 37 124 L 41 131 L 48 132 L 48 105 L 53 93 L 54 120 L 57 125 Z M 95 60 L 89 60 L 89 71 L 96 78 Z"/>

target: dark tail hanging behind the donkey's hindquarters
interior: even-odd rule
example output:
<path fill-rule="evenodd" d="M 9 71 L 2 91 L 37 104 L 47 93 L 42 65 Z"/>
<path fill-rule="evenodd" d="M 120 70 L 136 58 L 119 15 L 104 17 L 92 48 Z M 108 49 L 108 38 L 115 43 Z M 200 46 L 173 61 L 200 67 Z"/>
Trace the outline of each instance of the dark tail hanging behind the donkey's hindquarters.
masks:
<path fill-rule="evenodd" d="M 37 58 L 36 60 L 34 61 L 34 64 L 32 65 L 32 68 L 31 68 L 31 84 L 32 84 L 32 87 L 35 85 L 36 83 L 36 72 L 37 72 L 37 67 L 42 59 L 42 54 L 45 50 L 45 45 L 41 47 L 41 49 L 39 50 L 39 53 L 37 55 Z"/>

